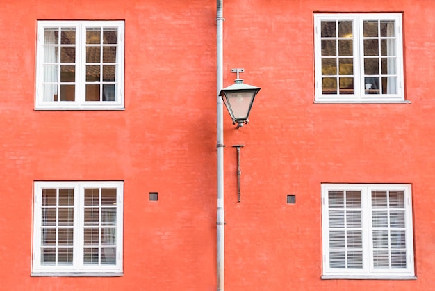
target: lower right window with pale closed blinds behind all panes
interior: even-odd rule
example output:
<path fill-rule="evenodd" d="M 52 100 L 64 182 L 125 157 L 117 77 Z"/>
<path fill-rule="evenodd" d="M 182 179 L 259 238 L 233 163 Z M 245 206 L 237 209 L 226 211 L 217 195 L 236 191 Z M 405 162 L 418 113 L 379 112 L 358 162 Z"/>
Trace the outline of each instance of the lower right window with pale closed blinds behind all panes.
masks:
<path fill-rule="evenodd" d="M 324 278 L 414 275 L 409 184 L 322 184 L 322 229 Z"/>

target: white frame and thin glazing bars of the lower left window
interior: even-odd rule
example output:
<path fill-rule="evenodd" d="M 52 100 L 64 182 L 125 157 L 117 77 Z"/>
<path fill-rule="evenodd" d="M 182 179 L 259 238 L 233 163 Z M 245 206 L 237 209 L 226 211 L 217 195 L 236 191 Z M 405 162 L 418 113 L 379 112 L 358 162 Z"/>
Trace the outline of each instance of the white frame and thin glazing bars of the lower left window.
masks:
<path fill-rule="evenodd" d="M 123 187 L 124 182 L 35 182 L 34 187 L 34 207 L 33 207 L 33 257 L 32 257 L 32 273 L 33 274 L 80 274 L 80 273 L 122 273 L 122 255 L 123 255 Z M 42 254 L 41 250 L 44 248 L 44 244 L 42 244 L 42 228 L 47 228 L 47 224 L 42 223 L 42 209 L 47 207 L 42 207 L 42 191 L 43 189 L 56 189 L 56 193 L 58 195 L 59 189 L 73 189 L 74 190 L 74 223 L 69 228 L 74 229 L 73 239 L 71 244 L 68 245 L 69 248 L 72 248 L 72 264 L 70 265 L 62 265 L 58 264 L 58 254 L 56 253 L 56 264 L 54 265 L 44 265 L 41 263 Z M 113 264 L 104 265 L 102 262 L 98 261 L 97 264 L 89 265 L 86 264 L 83 260 L 84 252 L 85 252 L 85 229 L 90 227 L 89 223 L 86 223 L 85 218 L 85 189 L 99 189 L 101 193 L 101 189 L 115 189 L 116 191 L 116 205 L 112 208 L 115 210 L 115 221 L 113 221 L 113 225 L 104 226 L 101 220 L 101 209 L 102 205 L 94 206 L 99 207 L 99 223 L 96 226 L 92 226 L 98 229 L 98 237 L 101 237 L 102 231 L 101 228 L 110 227 L 115 229 L 115 240 L 110 242 L 110 244 L 106 245 L 101 240 L 99 244 L 95 245 L 95 248 L 104 249 L 110 248 L 110 246 L 114 246 L 116 251 L 115 253 L 110 253 L 113 255 Z M 99 196 L 101 201 L 101 195 Z M 57 196 L 59 200 L 59 196 Z M 60 226 L 58 220 L 59 217 L 59 209 L 65 208 L 56 204 L 56 207 L 51 207 L 56 210 L 56 225 L 52 226 L 52 228 L 65 228 L 65 224 Z M 90 207 L 88 207 L 90 208 Z M 104 207 L 107 208 L 107 207 Z M 65 248 L 65 244 L 60 245 L 58 242 L 59 231 L 56 231 L 56 249 Z M 53 247 L 54 247 L 53 246 Z M 45 246 L 47 247 L 47 246 Z M 89 245 L 88 245 L 89 247 Z M 101 252 L 99 251 L 99 260 L 101 260 Z"/>

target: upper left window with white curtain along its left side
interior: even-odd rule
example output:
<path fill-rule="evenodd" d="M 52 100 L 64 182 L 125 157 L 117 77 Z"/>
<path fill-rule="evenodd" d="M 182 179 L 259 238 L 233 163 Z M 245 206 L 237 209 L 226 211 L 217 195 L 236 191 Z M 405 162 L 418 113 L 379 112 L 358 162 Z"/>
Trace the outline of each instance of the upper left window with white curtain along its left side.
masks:
<path fill-rule="evenodd" d="M 124 22 L 40 21 L 35 109 L 123 109 Z"/>

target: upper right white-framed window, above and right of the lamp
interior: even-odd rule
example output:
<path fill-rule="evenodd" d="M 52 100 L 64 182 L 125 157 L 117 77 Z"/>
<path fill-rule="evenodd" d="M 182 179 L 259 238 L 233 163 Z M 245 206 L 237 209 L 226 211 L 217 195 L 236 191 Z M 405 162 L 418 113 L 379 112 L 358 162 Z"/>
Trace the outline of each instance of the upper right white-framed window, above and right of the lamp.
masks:
<path fill-rule="evenodd" d="M 400 13 L 314 19 L 316 102 L 404 102 Z"/>

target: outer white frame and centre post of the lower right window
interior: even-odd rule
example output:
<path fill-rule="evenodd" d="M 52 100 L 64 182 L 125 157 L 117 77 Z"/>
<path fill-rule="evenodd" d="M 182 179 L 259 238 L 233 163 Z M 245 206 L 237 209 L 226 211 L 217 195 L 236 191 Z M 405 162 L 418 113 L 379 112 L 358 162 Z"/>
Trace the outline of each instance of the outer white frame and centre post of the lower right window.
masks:
<path fill-rule="evenodd" d="M 413 219 L 410 184 L 322 184 L 322 278 L 414 279 Z M 372 191 L 404 191 L 406 268 L 375 268 L 373 264 Z M 361 191 L 363 268 L 332 268 L 329 264 L 329 191 Z"/>

